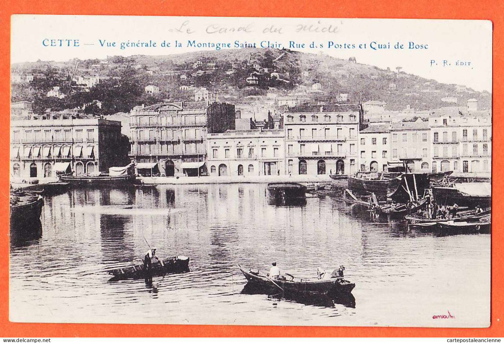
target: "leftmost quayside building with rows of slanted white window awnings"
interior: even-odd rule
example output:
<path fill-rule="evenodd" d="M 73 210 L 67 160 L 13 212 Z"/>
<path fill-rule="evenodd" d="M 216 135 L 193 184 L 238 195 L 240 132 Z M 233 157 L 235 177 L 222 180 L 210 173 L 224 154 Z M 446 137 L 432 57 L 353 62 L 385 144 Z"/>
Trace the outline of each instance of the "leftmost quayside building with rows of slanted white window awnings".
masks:
<path fill-rule="evenodd" d="M 129 161 L 119 121 L 31 119 L 11 121 L 11 174 L 20 178 L 108 172 Z"/>

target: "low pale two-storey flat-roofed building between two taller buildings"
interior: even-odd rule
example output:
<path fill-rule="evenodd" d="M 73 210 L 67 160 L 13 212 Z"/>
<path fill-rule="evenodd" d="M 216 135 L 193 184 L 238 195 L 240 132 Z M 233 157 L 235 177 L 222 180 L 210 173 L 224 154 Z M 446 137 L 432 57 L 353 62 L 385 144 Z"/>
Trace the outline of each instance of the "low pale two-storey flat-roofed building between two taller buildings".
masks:
<path fill-rule="evenodd" d="M 285 173 L 283 129 L 259 128 L 209 133 L 207 150 L 211 176 Z"/>

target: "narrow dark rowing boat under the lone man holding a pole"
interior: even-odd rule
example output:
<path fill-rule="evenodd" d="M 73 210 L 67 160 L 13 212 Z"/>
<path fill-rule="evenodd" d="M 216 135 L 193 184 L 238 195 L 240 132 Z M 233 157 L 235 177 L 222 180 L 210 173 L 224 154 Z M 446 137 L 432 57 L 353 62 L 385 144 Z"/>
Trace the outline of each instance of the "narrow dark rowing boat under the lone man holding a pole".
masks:
<path fill-rule="evenodd" d="M 189 257 L 175 256 L 152 263 L 150 275 L 146 275 L 143 264 L 137 264 L 130 267 L 116 268 L 106 270 L 114 277 L 109 281 L 125 279 L 144 279 L 148 277 L 164 276 L 166 274 L 179 273 L 189 270 Z"/>

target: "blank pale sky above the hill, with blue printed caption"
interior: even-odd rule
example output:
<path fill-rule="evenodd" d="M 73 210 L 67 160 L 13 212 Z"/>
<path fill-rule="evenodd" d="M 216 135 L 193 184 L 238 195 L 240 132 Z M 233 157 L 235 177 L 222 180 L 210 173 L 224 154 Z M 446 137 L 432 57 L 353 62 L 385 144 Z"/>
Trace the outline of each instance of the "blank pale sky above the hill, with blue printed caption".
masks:
<path fill-rule="evenodd" d="M 225 44 L 225 51 L 236 42 L 269 42 L 394 71 L 399 66 L 476 91 L 491 92 L 492 84 L 492 24 L 483 20 L 13 15 L 11 28 L 11 63 L 216 49 L 199 44 Z"/>

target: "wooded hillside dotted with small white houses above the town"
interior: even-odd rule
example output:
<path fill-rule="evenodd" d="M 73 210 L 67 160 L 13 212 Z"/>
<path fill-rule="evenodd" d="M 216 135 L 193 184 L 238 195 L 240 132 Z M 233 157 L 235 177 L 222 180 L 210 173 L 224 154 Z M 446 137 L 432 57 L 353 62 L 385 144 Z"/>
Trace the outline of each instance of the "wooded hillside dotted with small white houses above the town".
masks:
<path fill-rule="evenodd" d="M 254 97 L 247 96 L 267 93 L 297 96 L 305 102 L 334 103 L 338 94 L 345 93 L 349 102 L 385 101 L 391 111 L 407 105 L 417 110 L 463 106 L 469 98 L 477 99 L 480 108 L 491 106 L 487 92 L 441 84 L 400 70 L 383 70 L 287 49 L 243 48 L 163 56 L 110 56 L 107 60 L 38 61 L 13 64 L 11 69 L 13 75 L 22 78 L 33 76 L 29 83 L 13 82 L 11 101 L 33 101 L 36 113 L 46 108 L 82 107 L 93 100 L 100 100 L 102 109 L 88 106 L 87 111 L 129 112 L 139 104 L 190 100 L 194 87 L 216 90 L 220 101 L 236 104 L 254 101 L 249 100 Z M 79 76 L 99 76 L 100 81 L 85 87 L 76 83 Z M 247 83 L 249 77 L 257 78 L 258 84 Z M 317 83 L 320 87 L 313 89 Z M 147 85 L 159 87 L 159 93 L 145 94 Z M 66 97 L 47 97 L 54 86 L 60 87 Z M 186 89 L 181 90 L 181 86 Z"/>

